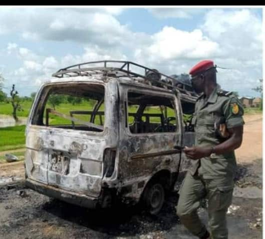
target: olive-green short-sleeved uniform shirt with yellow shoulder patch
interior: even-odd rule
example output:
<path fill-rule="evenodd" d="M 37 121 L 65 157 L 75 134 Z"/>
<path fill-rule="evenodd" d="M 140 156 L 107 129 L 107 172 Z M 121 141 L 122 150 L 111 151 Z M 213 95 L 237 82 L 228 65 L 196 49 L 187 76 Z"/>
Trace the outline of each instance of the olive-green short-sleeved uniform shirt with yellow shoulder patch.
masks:
<path fill-rule="evenodd" d="M 195 125 L 195 145 L 214 146 L 223 141 L 216 135 L 215 122 L 220 117 L 225 118 L 227 128 L 244 124 L 242 115 L 243 107 L 236 96 L 221 91 L 217 85 L 209 98 L 202 94 L 196 102 L 192 123 Z M 223 176 L 234 176 L 236 161 L 234 151 L 223 154 L 212 153 L 208 157 L 191 160 L 192 174 L 198 169 L 198 174 L 203 178 L 216 178 Z"/>

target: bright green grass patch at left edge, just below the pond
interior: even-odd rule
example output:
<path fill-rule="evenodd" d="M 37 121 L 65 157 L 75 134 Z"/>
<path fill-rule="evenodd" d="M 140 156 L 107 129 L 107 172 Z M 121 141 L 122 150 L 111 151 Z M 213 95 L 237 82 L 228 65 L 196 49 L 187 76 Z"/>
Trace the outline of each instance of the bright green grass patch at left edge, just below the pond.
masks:
<path fill-rule="evenodd" d="M 25 125 L 0 128 L 0 151 L 25 147 Z"/>

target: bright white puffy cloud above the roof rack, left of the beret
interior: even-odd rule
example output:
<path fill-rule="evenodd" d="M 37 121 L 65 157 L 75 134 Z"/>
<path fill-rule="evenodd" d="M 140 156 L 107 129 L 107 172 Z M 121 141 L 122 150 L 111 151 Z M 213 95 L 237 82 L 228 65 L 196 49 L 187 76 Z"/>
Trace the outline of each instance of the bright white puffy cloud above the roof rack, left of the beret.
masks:
<path fill-rule="evenodd" d="M 151 61 L 177 58 L 202 58 L 218 55 L 218 43 L 203 36 L 201 30 L 191 32 L 165 26 L 151 36 L 151 44 L 135 50 L 135 57 L 149 55 Z"/>

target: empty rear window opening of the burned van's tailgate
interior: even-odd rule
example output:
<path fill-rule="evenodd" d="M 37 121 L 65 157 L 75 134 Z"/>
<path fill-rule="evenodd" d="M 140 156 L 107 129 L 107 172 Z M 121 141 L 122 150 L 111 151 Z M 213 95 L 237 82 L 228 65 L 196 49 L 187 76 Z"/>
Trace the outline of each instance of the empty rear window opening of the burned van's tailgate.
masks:
<path fill-rule="evenodd" d="M 85 131 L 104 129 L 105 90 L 88 83 L 46 86 L 40 96 L 32 123 Z"/>

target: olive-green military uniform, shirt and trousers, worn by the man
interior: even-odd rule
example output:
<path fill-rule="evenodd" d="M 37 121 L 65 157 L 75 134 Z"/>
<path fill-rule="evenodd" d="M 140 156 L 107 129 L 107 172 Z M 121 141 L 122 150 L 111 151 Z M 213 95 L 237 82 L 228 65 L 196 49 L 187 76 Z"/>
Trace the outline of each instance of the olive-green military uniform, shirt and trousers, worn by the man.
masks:
<path fill-rule="evenodd" d="M 195 126 L 195 146 L 210 147 L 225 139 L 216 134 L 216 122 L 224 117 L 227 128 L 244 124 L 243 107 L 231 93 L 217 85 L 208 99 L 202 94 L 196 102 L 192 122 Z M 206 227 L 196 210 L 200 200 L 208 199 L 209 228 L 213 239 L 227 239 L 225 215 L 231 204 L 236 161 L 234 151 L 212 153 L 208 157 L 192 160 L 180 188 L 177 214 L 181 222 L 198 237 L 203 238 Z"/>

